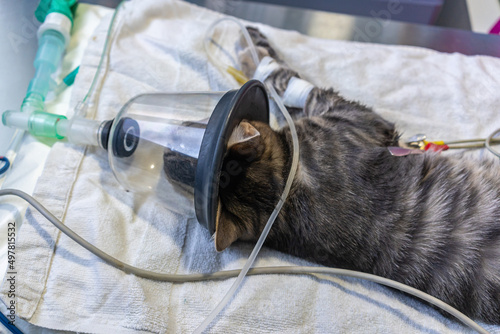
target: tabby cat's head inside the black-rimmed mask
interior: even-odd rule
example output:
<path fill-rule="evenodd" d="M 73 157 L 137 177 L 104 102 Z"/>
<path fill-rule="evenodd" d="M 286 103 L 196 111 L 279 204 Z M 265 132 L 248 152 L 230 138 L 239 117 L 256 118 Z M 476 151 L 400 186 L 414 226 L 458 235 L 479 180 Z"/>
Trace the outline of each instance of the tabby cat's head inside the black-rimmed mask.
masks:
<path fill-rule="evenodd" d="M 242 121 L 234 129 L 219 183 L 217 251 L 259 237 L 283 191 L 287 154 L 280 134 L 265 123 Z"/>

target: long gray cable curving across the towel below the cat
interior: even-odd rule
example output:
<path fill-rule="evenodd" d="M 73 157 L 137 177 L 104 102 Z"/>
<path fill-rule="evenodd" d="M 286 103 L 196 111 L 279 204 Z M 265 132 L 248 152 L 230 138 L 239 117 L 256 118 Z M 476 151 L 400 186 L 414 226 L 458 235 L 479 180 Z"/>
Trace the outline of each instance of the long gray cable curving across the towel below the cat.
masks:
<path fill-rule="evenodd" d="M 52 224 L 54 224 L 59 230 L 61 230 L 64 234 L 66 234 L 68 237 L 73 239 L 75 242 L 80 244 L 82 247 L 85 249 L 89 250 L 92 252 L 94 255 L 97 257 L 101 258 L 104 262 L 108 263 L 109 265 L 118 268 L 122 270 L 123 272 L 127 274 L 133 274 L 138 277 L 146 278 L 146 279 L 151 279 L 155 281 L 167 281 L 167 282 L 173 282 L 173 283 L 185 283 L 185 282 L 198 282 L 198 281 L 204 281 L 204 280 L 220 280 L 220 279 L 227 279 L 227 278 L 232 278 L 238 276 L 240 273 L 240 270 L 226 270 L 226 271 L 218 271 L 215 273 L 211 274 L 188 274 L 188 275 L 177 275 L 177 274 L 164 274 L 164 273 L 156 273 L 144 269 L 140 269 L 134 266 L 131 266 L 129 264 L 126 264 L 111 255 L 103 252 L 99 248 L 95 247 L 94 245 L 90 244 L 87 242 L 85 239 L 80 237 L 78 234 L 73 232 L 69 227 L 64 225 L 59 219 L 57 219 L 49 210 L 47 210 L 40 202 L 38 202 L 36 199 L 34 199 L 32 196 L 26 194 L 23 191 L 17 190 L 17 189 L 3 189 L 0 190 L 0 197 L 1 196 L 7 196 L 7 195 L 12 195 L 12 196 L 18 196 L 25 201 L 27 201 L 29 204 L 31 204 L 38 212 L 40 212 L 45 218 L 47 218 Z M 422 300 L 425 300 L 428 303 L 431 303 L 442 310 L 448 312 L 449 314 L 453 315 L 456 317 L 458 320 L 460 320 L 463 324 L 466 326 L 469 326 L 473 330 L 477 331 L 478 333 L 482 334 L 488 334 L 488 331 L 486 331 L 484 328 L 479 326 L 477 323 L 475 323 L 472 319 L 467 317 L 465 314 L 461 313 L 457 309 L 451 307 L 450 305 L 442 302 L 441 300 L 428 295 L 425 292 L 422 292 L 420 290 L 417 290 L 415 288 L 412 288 L 408 285 L 372 275 L 372 274 L 367 274 L 363 272 L 358 272 L 358 271 L 353 271 L 353 270 L 346 270 L 346 269 L 338 269 L 338 268 L 327 268 L 327 267 L 293 267 L 293 266 L 279 266 L 279 267 L 256 267 L 250 269 L 247 275 L 269 275 L 269 274 L 295 274 L 295 275 L 310 275 L 310 274 L 327 274 L 327 275 L 341 275 L 341 276 L 348 276 L 348 277 L 354 277 L 354 278 L 360 278 L 364 280 L 369 280 L 375 283 L 379 283 L 382 285 L 389 286 L 391 288 L 395 288 L 398 290 L 401 290 L 403 292 L 406 292 L 408 294 L 411 294 L 415 297 L 418 297 Z"/>

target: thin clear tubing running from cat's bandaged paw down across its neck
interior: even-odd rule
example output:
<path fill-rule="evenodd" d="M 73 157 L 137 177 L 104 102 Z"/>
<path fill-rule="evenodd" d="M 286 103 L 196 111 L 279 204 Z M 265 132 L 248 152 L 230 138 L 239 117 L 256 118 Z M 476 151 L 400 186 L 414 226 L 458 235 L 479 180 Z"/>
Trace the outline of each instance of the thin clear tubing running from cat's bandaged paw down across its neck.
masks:
<path fill-rule="evenodd" d="M 236 20 L 235 20 L 236 21 Z M 238 21 L 236 21 L 240 29 L 243 33 L 243 36 L 245 37 L 248 45 L 253 45 L 253 42 L 250 38 L 250 35 L 248 34 L 248 31 L 245 29 L 245 27 Z M 257 56 L 257 51 L 255 50 L 255 46 L 252 47 L 251 49 L 252 53 L 252 58 L 257 65 L 259 63 L 259 58 Z M 297 137 L 297 131 L 295 129 L 295 125 L 293 123 L 292 117 L 288 113 L 286 107 L 283 105 L 283 102 L 281 101 L 280 96 L 274 89 L 272 85 L 266 84 L 267 89 L 271 93 L 272 99 L 276 102 L 278 107 L 280 108 L 281 112 L 285 116 L 285 119 L 288 123 L 288 126 L 290 127 L 290 133 L 292 135 L 292 146 L 293 146 L 293 155 L 292 155 L 292 166 L 290 168 L 290 173 L 288 174 L 288 178 L 285 184 L 285 188 L 283 190 L 283 193 L 281 194 L 281 197 L 276 204 L 276 207 L 274 208 L 274 211 L 271 213 L 271 216 L 269 217 L 266 226 L 264 227 L 264 230 L 262 231 L 262 234 L 259 237 L 259 240 L 257 241 L 257 244 L 255 245 L 252 253 L 248 257 L 247 262 L 241 269 L 240 274 L 234 281 L 233 285 L 229 289 L 229 291 L 226 293 L 224 298 L 219 302 L 219 304 L 213 309 L 213 311 L 208 315 L 208 317 L 203 320 L 203 322 L 195 329 L 194 333 L 203 333 L 205 329 L 210 326 L 212 321 L 215 319 L 215 317 L 224 309 L 224 307 L 227 305 L 227 303 L 231 300 L 233 295 L 236 293 L 238 288 L 240 287 L 241 283 L 243 282 L 243 279 L 247 275 L 248 271 L 250 270 L 250 267 L 253 265 L 255 262 L 255 259 L 257 258 L 257 255 L 259 254 L 260 249 L 262 248 L 262 245 L 264 244 L 264 241 L 267 238 L 267 235 L 269 234 L 269 231 L 271 230 L 271 227 L 273 226 L 274 221 L 276 220 L 276 217 L 278 216 L 279 212 L 281 211 L 281 208 L 283 207 L 283 204 L 285 203 L 288 193 L 290 192 L 290 188 L 292 187 L 293 180 L 295 178 L 295 174 L 297 172 L 297 167 L 299 164 L 299 139 Z"/>

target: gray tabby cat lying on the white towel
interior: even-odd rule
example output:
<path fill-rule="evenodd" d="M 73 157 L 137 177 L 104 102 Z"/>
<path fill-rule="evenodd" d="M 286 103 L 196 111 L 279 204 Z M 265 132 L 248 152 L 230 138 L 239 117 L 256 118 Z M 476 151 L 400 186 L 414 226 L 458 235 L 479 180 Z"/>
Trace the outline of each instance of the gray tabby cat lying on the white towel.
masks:
<path fill-rule="evenodd" d="M 280 64 L 268 80 L 283 95 L 298 73 L 247 29 L 259 56 Z M 248 54 L 240 59 L 252 77 Z M 500 164 L 461 154 L 393 156 L 395 125 L 333 89 L 313 88 L 292 111 L 299 166 L 265 245 L 402 282 L 500 324 Z M 290 129 L 242 121 L 222 169 L 235 161 L 241 172 L 219 189 L 217 251 L 260 236 L 290 170 Z"/>

